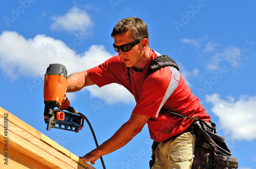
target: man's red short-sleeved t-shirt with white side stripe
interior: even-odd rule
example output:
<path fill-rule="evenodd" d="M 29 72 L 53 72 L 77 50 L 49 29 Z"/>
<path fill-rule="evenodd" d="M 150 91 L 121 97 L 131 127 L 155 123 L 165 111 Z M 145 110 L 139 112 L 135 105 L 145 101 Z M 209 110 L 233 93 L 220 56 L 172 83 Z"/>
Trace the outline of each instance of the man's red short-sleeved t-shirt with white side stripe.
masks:
<path fill-rule="evenodd" d="M 151 50 L 146 68 L 140 72 L 130 68 L 131 82 L 127 67 L 120 57 L 114 56 L 99 66 L 87 70 L 91 80 L 99 87 L 118 83 L 129 90 L 136 100 L 133 113 L 151 116 L 147 122 L 151 138 L 161 142 L 180 134 L 194 122 L 160 110 L 180 113 L 184 116 L 197 116 L 209 122 L 210 116 L 205 113 L 199 99 L 191 93 L 179 71 L 172 66 L 165 66 L 148 75 L 147 67 L 160 54 Z"/>

